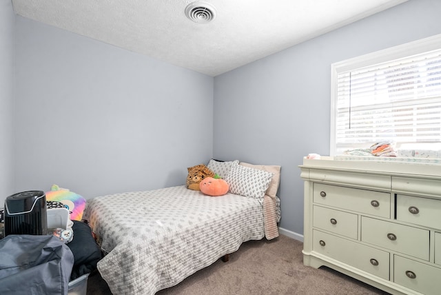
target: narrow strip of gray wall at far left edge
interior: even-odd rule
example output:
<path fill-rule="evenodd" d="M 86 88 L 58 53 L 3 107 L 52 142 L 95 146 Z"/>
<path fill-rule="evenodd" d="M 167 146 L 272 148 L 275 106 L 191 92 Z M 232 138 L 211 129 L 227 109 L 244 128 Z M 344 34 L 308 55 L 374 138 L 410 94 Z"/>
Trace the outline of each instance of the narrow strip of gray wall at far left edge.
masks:
<path fill-rule="evenodd" d="M 0 0 L 0 208 L 14 193 L 13 89 L 14 10 L 10 0 Z"/>

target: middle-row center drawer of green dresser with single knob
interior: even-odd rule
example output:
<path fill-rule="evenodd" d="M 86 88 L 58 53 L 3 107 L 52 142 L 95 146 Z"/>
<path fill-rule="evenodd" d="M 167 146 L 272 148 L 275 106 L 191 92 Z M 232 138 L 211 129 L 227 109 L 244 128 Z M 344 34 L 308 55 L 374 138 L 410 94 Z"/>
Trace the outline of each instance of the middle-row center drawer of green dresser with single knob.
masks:
<path fill-rule="evenodd" d="M 361 241 L 429 261 L 429 230 L 362 216 Z"/>

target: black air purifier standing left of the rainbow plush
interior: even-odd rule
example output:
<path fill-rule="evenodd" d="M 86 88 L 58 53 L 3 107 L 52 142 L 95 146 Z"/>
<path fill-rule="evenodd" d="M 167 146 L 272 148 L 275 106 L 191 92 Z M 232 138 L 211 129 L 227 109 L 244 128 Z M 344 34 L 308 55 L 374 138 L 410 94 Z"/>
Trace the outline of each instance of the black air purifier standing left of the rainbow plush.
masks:
<path fill-rule="evenodd" d="M 39 190 L 19 192 L 5 201 L 5 236 L 47 234 L 46 195 Z"/>

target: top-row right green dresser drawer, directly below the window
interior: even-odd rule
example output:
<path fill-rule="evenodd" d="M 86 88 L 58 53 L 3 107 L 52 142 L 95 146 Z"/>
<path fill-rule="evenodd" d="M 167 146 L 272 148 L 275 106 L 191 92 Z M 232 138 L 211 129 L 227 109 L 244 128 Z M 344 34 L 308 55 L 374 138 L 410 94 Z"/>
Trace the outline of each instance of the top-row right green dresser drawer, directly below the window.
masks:
<path fill-rule="evenodd" d="M 441 199 L 397 195 L 397 220 L 441 230 Z"/>

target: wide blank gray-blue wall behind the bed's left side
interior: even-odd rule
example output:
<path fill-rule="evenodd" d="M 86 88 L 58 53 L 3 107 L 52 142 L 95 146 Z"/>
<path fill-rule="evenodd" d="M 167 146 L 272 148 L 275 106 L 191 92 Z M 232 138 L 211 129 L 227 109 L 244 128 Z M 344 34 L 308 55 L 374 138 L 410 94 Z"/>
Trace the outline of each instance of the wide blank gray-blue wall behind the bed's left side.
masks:
<path fill-rule="evenodd" d="M 185 184 L 212 156 L 212 77 L 16 17 L 15 190 Z"/>

